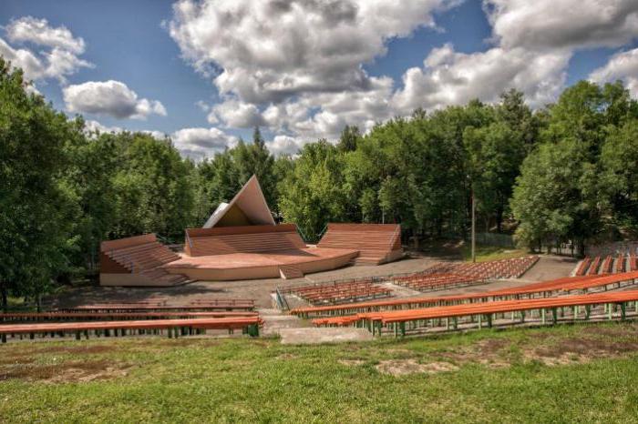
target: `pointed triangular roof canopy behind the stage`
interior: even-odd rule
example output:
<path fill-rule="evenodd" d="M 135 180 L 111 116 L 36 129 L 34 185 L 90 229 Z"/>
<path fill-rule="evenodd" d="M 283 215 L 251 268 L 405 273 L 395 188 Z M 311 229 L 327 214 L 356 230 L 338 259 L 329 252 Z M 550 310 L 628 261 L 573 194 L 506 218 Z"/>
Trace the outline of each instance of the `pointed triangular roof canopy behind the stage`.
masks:
<path fill-rule="evenodd" d="M 208 218 L 204 228 L 274 225 L 262 187 L 252 176 L 242 189 L 232 197 L 231 203 L 221 203 Z"/>

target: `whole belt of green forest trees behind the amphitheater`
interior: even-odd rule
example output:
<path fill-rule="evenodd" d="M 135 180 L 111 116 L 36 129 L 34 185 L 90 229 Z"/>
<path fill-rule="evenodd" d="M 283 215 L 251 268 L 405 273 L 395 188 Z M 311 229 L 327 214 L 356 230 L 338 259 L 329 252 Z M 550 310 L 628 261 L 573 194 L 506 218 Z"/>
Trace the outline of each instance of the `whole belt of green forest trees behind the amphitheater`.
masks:
<path fill-rule="evenodd" d="M 509 90 L 379 123 L 346 126 L 274 157 L 252 140 L 201 162 L 170 138 L 87 133 L 0 58 L 0 291 L 36 296 L 95 272 L 101 240 L 183 239 L 252 174 L 279 221 L 314 240 L 327 222 L 401 223 L 404 237 L 480 231 L 521 246 L 633 237 L 638 228 L 638 104 L 621 82 L 581 81 L 531 110 Z"/>

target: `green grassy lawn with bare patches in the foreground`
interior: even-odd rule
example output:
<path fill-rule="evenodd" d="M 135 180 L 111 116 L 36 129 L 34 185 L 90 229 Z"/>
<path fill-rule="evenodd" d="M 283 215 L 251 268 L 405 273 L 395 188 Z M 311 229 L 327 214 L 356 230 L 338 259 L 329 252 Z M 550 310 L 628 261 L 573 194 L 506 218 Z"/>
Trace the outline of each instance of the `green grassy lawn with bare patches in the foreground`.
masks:
<path fill-rule="evenodd" d="M 0 421 L 637 422 L 638 323 L 0 346 Z"/>

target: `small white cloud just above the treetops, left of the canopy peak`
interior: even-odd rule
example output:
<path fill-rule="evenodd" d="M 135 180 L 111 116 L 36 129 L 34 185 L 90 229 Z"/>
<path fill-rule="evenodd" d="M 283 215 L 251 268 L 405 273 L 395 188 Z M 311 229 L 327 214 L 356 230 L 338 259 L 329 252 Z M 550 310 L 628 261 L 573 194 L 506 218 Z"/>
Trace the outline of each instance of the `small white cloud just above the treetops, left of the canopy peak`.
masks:
<path fill-rule="evenodd" d="M 221 152 L 226 147 L 234 146 L 237 143 L 236 137 L 215 127 L 183 128 L 174 132 L 170 137 L 182 155 L 195 160 L 213 156 L 216 152 Z"/>

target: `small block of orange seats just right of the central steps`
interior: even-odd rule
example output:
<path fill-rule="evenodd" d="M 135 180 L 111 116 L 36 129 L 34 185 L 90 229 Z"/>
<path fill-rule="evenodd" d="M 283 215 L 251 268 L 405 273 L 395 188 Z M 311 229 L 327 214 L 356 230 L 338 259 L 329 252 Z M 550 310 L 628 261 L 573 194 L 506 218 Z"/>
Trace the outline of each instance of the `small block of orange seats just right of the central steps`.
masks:
<path fill-rule="evenodd" d="M 386 298 L 392 291 L 373 284 L 371 280 L 304 286 L 280 289 L 281 293 L 293 293 L 313 305 L 355 302 L 364 299 Z"/>

